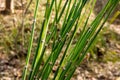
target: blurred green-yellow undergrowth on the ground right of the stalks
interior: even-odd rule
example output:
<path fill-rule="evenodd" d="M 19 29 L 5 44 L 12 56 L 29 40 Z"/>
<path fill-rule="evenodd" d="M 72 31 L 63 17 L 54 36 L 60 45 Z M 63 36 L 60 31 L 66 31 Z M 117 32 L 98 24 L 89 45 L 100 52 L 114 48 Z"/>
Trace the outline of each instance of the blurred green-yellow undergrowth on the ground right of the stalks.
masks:
<path fill-rule="evenodd" d="M 103 27 L 102 31 L 89 49 L 91 55 L 89 58 L 90 60 L 102 62 L 116 62 L 120 60 L 120 57 L 118 56 L 119 52 L 116 52 L 116 48 L 119 48 L 117 45 L 120 43 L 118 37 L 119 34 L 110 30 L 108 27 L 110 27 L 110 25 Z"/>

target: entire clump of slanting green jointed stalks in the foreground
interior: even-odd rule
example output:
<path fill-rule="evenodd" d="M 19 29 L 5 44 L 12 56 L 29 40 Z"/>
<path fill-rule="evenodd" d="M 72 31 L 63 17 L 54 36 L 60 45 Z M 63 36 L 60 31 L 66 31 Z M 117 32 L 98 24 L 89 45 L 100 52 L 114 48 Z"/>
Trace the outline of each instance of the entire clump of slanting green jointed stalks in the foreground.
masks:
<path fill-rule="evenodd" d="M 84 59 L 96 36 L 99 34 L 109 15 L 120 0 L 108 0 L 108 3 L 88 26 L 88 22 L 90 21 L 89 18 L 96 1 L 97 0 L 47 0 L 38 46 L 32 62 L 31 70 L 28 74 L 27 66 L 29 63 L 35 26 L 35 22 L 33 23 L 26 68 L 23 71 L 22 80 L 48 80 L 50 79 L 51 74 L 53 75 L 51 80 L 71 79 L 76 68 Z M 36 2 L 37 4 L 34 13 L 35 19 L 39 0 L 36 0 Z M 92 6 L 90 6 L 90 4 L 92 4 Z M 90 8 L 89 12 L 87 12 L 87 9 L 84 11 L 85 6 L 87 6 L 86 8 Z M 51 13 L 54 11 L 53 9 L 55 9 L 55 17 L 52 25 L 49 26 Z M 83 11 L 84 14 L 82 15 Z M 87 15 L 86 19 L 84 19 L 85 14 Z M 74 41 L 79 27 L 82 26 L 81 24 L 83 20 L 83 28 L 81 29 L 77 42 L 73 46 L 72 42 Z M 61 26 L 58 25 L 60 23 Z M 60 27 L 60 31 L 57 30 Z M 42 59 L 45 56 L 50 40 L 53 41 L 52 45 L 50 45 L 51 51 L 49 51 L 49 56 L 42 65 Z M 59 56 L 62 57 L 59 59 Z M 52 72 L 57 60 L 60 62 L 58 63 L 55 72 Z M 26 78 L 26 76 L 28 77 Z"/>

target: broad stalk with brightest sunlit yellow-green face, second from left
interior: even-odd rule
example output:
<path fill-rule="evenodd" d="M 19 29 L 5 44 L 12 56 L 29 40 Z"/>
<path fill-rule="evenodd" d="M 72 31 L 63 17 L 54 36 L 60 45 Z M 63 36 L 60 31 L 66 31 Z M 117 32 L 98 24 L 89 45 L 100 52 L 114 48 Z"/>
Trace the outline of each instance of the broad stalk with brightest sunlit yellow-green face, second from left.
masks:
<path fill-rule="evenodd" d="M 32 64 L 32 72 L 29 75 L 30 80 L 33 79 L 33 77 L 36 75 L 37 71 L 39 70 L 39 66 L 40 66 L 39 60 L 45 45 L 45 39 L 48 31 L 48 24 L 49 24 L 49 19 L 50 19 L 50 14 L 52 11 L 53 4 L 54 4 L 54 0 L 52 0 L 51 4 L 50 4 L 50 0 L 47 0 L 45 20 L 43 22 L 42 30 L 40 32 L 39 44 L 37 47 L 36 55 L 34 57 L 34 62 Z"/>

